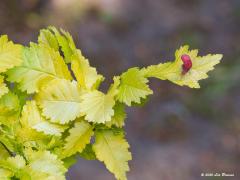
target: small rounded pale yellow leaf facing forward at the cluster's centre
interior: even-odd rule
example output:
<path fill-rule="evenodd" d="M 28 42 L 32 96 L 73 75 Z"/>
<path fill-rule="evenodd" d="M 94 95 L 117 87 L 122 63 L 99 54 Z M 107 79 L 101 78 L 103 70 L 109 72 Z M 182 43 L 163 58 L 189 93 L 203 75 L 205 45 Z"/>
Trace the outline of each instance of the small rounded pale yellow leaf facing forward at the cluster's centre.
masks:
<path fill-rule="evenodd" d="M 82 95 L 80 111 L 86 115 L 85 119 L 94 123 L 105 123 L 114 115 L 114 98 L 111 94 L 104 94 L 94 90 Z"/>

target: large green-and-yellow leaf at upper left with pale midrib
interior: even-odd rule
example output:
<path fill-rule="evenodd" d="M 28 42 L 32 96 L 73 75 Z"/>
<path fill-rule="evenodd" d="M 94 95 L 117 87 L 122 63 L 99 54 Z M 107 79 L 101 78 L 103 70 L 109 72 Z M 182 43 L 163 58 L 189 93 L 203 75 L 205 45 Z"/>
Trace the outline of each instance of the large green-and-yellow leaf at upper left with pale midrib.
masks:
<path fill-rule="evenodd" d="M 62 57 L 54 49 L 31 44 L 24 48 L 23 64 L 7 72 L 8 80 L 19 83 L 22 91 L 31 94 L 53 79 L 69 79 L 70 72 Z"/>

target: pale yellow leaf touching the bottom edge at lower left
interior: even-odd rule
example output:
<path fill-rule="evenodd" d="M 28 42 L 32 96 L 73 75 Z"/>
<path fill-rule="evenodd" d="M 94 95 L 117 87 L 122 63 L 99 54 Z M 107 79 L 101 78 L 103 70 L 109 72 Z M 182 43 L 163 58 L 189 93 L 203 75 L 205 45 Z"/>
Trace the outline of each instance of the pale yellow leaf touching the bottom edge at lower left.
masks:
<path fill-rule="evenodd" d="M 64 174 L 67 171 L 63 162 L 56 155 L 49 151 L 32 151 L 27 155 L 28 167 L 35 172 L 45 173 L 54 179 L 65 179 Z"/>

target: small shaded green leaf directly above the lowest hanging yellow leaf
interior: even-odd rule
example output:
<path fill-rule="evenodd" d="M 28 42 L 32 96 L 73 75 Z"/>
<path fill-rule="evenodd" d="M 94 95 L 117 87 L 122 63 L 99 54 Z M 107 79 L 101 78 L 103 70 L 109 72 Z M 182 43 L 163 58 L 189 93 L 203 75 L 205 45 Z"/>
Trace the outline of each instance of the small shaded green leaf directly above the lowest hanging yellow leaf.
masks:
<path fill-rule="evenodd" d="M 124 104 L 117 103 L 114 107 L 114 116 L 112 117 L 111 121 L 106 123 L 106 126 L 111 127 L 115 125 L 118 128 L 124 126 L 124 120 L 126 119 L 126 112 Z"/>

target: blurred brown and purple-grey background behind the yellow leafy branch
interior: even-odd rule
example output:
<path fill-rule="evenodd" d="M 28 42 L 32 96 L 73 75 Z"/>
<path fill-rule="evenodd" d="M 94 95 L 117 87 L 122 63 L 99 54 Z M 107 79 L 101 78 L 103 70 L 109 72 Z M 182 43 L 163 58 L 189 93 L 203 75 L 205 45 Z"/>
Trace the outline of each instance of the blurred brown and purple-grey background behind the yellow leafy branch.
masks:
<path fill-rule="evenodd" d="M 200 90 L 152 80 L 145 107 L 128 109 L 129 180 L 197 180 L 201 172 L 240 179 L 239 0 L 1 0 L 0 33 L 36 41 L 48 25 L 71 32 L 105 75 L 172 60 L 182 44 L 224 59 Z M 111 180 L 97 161 L 79 159 L 69 180 Z M 212 178 L 213 179 L 213 178 Z M 217 179 L 227 179 L 218 177 Z"/>

